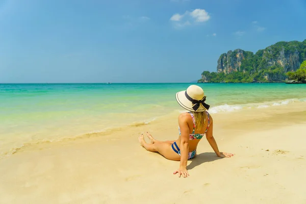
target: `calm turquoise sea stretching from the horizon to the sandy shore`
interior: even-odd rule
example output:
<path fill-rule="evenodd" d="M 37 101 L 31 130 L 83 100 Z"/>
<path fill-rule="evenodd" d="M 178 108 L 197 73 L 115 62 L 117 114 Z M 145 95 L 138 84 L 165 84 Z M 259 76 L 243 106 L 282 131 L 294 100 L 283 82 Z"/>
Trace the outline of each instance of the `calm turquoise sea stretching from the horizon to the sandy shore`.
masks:
<path fill-rule="evenodd" d="M 31 142 L 101 132 L 184 111 L 177 91 L 191 84 L 0 84 L 0 157 Z M 306 85 L 197 84 L 209 112 L 306 101 Z"/>

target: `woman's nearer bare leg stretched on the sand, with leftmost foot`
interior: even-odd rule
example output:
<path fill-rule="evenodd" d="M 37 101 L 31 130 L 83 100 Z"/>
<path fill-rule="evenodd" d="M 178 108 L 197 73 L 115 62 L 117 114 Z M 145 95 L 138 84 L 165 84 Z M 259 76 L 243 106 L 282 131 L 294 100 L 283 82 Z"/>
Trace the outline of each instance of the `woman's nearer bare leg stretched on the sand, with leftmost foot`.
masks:
<path fill-rule="evenodd" d="M 155 142 L 155 143 L 146 143 L 143 135 L 141 134 L 139 136 L 139 143 L 141 146 L 143 146 L 146 150 L 152 151 L 152 152 L 159 152 L 162 156 L 164 156 L 166 159 L 174 160 L 174 161 L 180 161 L 181 156 L 176 154 L 172 147 L 171 143 L 169 142 Z"/>

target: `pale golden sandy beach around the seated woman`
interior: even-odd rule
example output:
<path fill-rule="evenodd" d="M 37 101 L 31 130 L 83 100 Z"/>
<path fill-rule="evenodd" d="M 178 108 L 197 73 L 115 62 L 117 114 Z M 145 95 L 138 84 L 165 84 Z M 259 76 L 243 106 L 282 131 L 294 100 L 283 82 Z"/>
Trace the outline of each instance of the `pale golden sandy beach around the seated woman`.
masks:
<path fill-rule="evenodd" d="M 0 203 L 306 203 L 306 101 L 290 98 L 212 109 L 219 150 L 234 157 L 218 158 L 202 138 L 187 178 L 173 175 L 179 162 L 138 142 L 147 131 L 177 139 L 182 110 L 52 141 L 34 137 L 2 155 Z"/>

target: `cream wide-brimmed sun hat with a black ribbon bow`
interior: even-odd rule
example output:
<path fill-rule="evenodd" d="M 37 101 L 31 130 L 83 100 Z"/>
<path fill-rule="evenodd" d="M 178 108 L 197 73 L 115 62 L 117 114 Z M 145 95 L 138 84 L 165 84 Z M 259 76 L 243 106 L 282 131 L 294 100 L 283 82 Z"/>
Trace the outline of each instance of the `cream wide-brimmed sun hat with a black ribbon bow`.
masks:
<path fill-rule="evenodd" d="M 205 103 L 206 95 L 201 87 L 191 85 L 185 91 L 176 93 L 176 101 L 184 109 L 193 112 L 203 112 L 209 109 L 209 105 Z"/>

